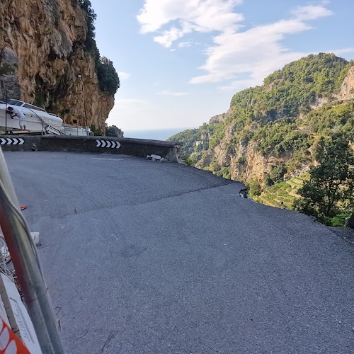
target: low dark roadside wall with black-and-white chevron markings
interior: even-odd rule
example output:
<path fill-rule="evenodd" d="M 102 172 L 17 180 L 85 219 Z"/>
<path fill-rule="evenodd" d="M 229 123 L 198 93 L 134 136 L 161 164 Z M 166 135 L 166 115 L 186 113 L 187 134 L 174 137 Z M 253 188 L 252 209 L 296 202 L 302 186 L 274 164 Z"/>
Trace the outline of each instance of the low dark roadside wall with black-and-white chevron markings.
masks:
<path fill-rule="evenodd" d="M 156 154 L 178 161 L 181 144 L 159 140 L 130 139 L 114 137 L 72 137 L 72 136 L 15 136 L 1 135 L 3 151 L 58 151 L 58 152 L 101 152 L 103 154 L 124 154 L 146 157 Z"/>

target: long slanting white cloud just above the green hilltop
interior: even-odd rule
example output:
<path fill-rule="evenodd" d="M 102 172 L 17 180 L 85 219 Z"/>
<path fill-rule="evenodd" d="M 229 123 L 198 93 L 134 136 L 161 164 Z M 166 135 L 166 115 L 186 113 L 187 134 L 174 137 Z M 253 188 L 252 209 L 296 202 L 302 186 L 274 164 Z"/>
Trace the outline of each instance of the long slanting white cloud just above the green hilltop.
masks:
<path fill-rule="evenodd" d="M 282 40 L 286 35 L 312 29 L 308 20 L 329 16 L 331 11 L 323 6 L 304 6 L 298 7 L 293 14 L 293 18 L 258 25 L 244 32 L 224 31 L 215 35 L 213 45 L 205 51 L 205 64 L 199 67 L 206 74 L 193 77 L 190 83 L 229 81 L 221 89 L 243 89 L 246 86 L 241 87 L 240 84 L 261 84 L 271 72 L 307 55 L 291 52 L 282 45 Z"/>

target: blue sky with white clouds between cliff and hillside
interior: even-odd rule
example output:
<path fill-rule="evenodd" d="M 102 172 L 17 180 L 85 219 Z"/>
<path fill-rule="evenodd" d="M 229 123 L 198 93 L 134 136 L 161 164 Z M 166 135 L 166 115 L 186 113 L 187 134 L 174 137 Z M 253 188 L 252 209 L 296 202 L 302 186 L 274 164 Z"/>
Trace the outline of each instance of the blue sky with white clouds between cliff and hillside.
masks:
<path fill-rule="evenodd" d="M 91 0 L 120 89 L 108 125 L 198 127 L 310 53 L 354 59 L 352 0 Z"/>

